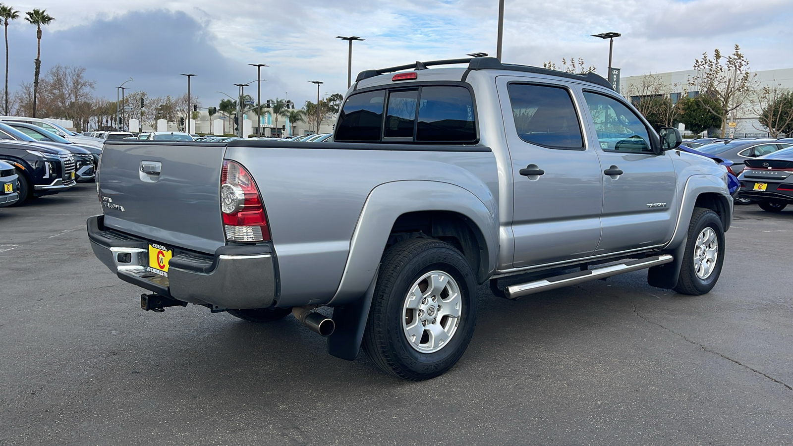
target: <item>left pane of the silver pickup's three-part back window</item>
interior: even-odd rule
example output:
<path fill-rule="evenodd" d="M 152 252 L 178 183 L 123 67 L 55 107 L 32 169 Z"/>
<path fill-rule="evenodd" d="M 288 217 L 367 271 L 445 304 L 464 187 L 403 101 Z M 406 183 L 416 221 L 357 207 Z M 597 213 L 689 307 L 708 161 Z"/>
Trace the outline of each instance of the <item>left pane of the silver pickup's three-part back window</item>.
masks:
<path fill-rule="evenodd" d="M 347 98 L 339 113 L 335 140 L 380 140 L 384 98 L 383 90 L 353 94 Z"/>

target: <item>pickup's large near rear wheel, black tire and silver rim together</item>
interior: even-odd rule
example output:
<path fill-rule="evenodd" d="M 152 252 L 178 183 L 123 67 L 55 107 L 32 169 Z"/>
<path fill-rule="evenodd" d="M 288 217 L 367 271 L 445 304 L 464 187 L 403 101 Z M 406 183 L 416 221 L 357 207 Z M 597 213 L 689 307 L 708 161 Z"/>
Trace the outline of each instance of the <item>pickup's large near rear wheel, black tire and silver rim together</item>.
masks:
<path fill-rule="evenodd" d="M 440 240 L 410 239 L 383 255 L 363 349 L 383 371 L 422 381 L 448 371 L 477 324 L 465 257 Z"/>

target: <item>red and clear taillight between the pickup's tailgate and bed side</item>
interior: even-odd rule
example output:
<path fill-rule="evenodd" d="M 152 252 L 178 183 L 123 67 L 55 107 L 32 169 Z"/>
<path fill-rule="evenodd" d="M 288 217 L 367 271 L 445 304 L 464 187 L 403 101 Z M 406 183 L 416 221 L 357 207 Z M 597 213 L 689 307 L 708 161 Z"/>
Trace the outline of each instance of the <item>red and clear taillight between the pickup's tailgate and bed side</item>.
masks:
<path fill-rule="evenodd" d="M 224 160 L 220 172 L 220 211 L 226 240 L 270 241 L 262 196 L 251 174 L 240 164 Z"/>

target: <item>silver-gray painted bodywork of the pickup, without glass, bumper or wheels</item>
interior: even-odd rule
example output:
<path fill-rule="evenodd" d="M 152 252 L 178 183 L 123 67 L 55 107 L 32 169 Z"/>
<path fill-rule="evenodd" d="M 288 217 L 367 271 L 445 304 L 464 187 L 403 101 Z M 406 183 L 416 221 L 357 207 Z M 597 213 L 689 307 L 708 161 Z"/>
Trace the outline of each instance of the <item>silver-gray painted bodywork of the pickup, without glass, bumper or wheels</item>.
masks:
<path fill-rule="evenodd" d="M 105 225 L 162 244 L 211 253 L 225 244 L 218 189 L 223 159 L 250 171 L 262 194 L 276 259 L 277 306 L 345 305 L 370 287 L 400 215 L 458 213 L 481 234 L 477 279 L 630 255 L 672 251 L 685 241 L 699 194 L 732 201 L 725 172 L 685 152 L 600 150 L 582 89 L 613 91 L 553 76 L 432 69 L 412 82 L 459 81 L 475 92 L 477 146 L 289 143 L 108 143 L 100 194 Z M 504 79 L 498 79 L 504 78 Z M 583 150 L 543 148 L 515 133 L 509 80 L 556 83 L 571 91 Z M 391 87 L 390 75 L 356 83 Z M 624 102 L 623 99 L 619 99 Z M 657 136 L 656 136 L 657 137 Z M 378 147 L 373 147 L 377 145 Z M 366 146 L 369 146 L 368 148 Z M 472 150 L 473 149 L 473 150 Z M 153 181 L 142 161 L 159 162 Z M 546 175 L 527 178 L 536 164 Z M 618 179 L 603 170 L 618 165 Z M 647 206 L 664 203 L 664 206 Z"/>

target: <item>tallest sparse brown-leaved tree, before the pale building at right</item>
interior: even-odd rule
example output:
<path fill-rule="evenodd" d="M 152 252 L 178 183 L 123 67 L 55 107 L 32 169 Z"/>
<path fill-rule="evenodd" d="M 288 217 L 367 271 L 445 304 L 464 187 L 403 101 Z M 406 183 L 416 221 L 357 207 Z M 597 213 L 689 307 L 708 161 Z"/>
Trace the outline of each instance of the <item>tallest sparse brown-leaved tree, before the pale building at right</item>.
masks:
<path fill-rule="evenodd" d="M 703 52 L 702 59 L 694 61 L 695 75 L 688 80 L 692 89 L 699 94 L 706 94 L 708 98 L 718 105 L 710 107 L 707 101 L 703 106 L 718 114 L 722 118 L 722 137 L 726 131 L 727 117 L 736 112 L 749 101 L 752 94 L 753 75 L 749 74 L 749 60 L 741 53 L 741 48 L 735 45 L 730 56 L 722 56 L 718 48 L 713 52 L 713 58 Z"/>

